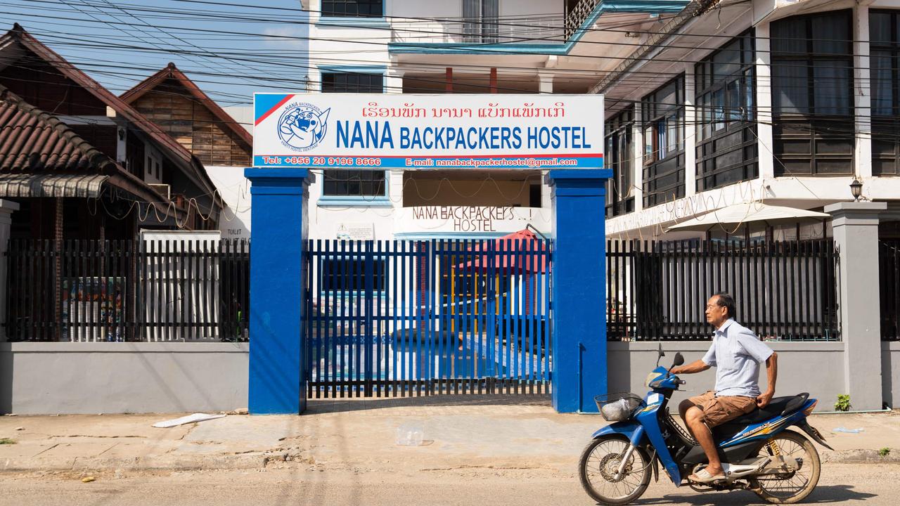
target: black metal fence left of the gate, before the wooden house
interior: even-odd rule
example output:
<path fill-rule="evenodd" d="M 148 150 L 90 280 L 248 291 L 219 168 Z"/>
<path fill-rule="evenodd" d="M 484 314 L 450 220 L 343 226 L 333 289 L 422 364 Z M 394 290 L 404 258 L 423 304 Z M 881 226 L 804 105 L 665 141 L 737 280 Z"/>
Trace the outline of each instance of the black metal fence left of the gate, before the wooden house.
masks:
<path fill-rule="evenodd" d="M 11 341 L 247 340 L 246 240 L 11 240 Z"/>

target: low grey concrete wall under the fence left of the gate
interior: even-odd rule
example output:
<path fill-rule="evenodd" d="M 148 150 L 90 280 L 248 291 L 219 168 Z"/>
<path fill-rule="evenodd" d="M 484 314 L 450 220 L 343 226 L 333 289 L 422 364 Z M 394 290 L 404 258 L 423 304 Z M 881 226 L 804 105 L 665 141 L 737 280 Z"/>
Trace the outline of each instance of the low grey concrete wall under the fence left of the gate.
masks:
<path fill-rule="evenodd" d="M 247 407 L 247 343 L 0 343 L 0 413 Z"/>

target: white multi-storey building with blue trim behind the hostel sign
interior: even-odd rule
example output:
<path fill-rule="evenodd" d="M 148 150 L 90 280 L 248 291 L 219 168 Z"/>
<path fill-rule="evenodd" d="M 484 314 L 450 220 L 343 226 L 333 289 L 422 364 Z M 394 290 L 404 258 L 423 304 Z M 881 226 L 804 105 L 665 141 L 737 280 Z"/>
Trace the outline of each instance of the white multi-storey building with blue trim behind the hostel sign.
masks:
<path fill-rule="evenodd" d="M 325 93 L 606 95 L 609 236 L 827 236 L 827 221 L 667 230 L 733 203 L 821 210 L 851 200 L 854 178 L 862 198 L 888 201 L 883 237 L 900 231 L 896 0 L 302 6 Z M 551 212 L 537 170 L 334 170 L 311 186 L 310 232 L 490 237 L 548 230 Z"/>

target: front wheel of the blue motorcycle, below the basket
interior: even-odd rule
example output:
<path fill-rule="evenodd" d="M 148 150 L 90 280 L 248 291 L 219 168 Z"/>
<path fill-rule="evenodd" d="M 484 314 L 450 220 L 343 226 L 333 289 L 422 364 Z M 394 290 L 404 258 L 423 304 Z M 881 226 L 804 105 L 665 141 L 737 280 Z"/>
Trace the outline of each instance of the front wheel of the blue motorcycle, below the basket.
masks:
<path fill-rule="evenodd" d="M 628 457 L 623 474 L 616 475 L 630 446 L 627 438 L 608 435 L 592 440 L 581 452 L 579 477 L 591 499 L 602 504 L 627 504 L 647 490 L 651 462 L 641 447 L 635 447 Z"/>

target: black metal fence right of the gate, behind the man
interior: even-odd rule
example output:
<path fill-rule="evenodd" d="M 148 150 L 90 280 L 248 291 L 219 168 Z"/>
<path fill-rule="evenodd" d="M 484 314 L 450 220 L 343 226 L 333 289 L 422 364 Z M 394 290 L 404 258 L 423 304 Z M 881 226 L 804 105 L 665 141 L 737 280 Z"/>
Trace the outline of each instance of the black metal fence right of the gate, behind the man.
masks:
<path fill-rule="evenodd" d="M 728 292 L 761 339 L 840 340 L 838 255 L 831 239 L 610 240 L 608 339 L 711 339 L 707 298 Z"/>

